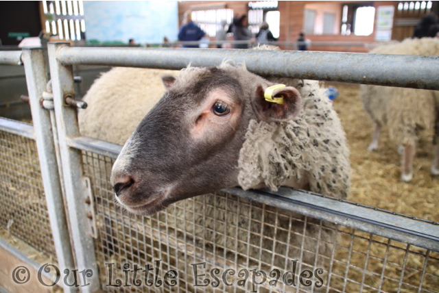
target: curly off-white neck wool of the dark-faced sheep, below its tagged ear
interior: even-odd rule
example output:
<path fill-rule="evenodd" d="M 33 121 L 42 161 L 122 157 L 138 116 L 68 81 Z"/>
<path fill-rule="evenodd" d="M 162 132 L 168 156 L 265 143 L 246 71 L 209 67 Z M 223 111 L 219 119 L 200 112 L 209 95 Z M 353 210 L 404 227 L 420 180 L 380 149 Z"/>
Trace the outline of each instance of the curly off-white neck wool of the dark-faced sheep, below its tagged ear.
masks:
<path fill-rule="evenodd" d="M 285 122 L 250 121 L 239 153 L 239 185 L 277 190 L 307 177 L 311 191 L 346 198 L 349 152 L 331 101 L 318 81 L 287 84 L 296 84 L 302 96 L 300 114 Z"/>

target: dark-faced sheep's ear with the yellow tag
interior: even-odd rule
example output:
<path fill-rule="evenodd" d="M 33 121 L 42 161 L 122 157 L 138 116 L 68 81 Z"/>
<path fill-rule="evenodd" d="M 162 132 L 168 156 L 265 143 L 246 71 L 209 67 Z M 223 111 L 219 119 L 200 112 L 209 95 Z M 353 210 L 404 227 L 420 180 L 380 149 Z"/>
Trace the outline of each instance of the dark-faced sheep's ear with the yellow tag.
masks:
<path fill-rule="evenodd" d="M 272 91 L 271 96 L 274 100 L 281 99 L 283 103 L 275 103 L 265 99 L 265 90 L 258 86 L 256 90 L 256 99 L 253 101 L 254 110 L 259 118 L 264 121 L 284 121 L 296 116 L 300 110 L 300 101 L 302 98 L 296 88 L 286 86 L 276 88 Z"/>

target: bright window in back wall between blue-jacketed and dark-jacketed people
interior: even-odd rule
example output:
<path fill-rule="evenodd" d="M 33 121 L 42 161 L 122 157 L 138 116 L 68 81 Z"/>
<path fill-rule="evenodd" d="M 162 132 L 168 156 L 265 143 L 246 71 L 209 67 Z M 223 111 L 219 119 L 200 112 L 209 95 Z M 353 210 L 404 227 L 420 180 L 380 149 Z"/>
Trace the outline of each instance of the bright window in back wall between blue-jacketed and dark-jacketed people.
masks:
<path fill-rule="evenodd" d="M 208 36 L 214 37 L 217 30 L 221 27 L 221 22 L 226 21 L 230 24 L 233 21 L 233 10 L 231 9 L 211 9 L 193 11 L 192 21 L 200 25 Z"/>

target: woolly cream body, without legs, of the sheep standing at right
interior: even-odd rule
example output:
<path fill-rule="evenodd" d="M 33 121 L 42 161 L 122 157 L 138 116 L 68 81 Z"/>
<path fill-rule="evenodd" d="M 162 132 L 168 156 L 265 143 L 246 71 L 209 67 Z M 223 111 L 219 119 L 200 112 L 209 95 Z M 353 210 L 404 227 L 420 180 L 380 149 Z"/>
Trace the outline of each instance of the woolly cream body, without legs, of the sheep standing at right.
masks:
<path fill-rule="evenodd" d="M 439 55 L 439 38 L 392 42 L 371 53 Z M 390 138 L 396 144 L 416 140 L 416 129 L 431 129 L 434 125 L 435 108 L 439 105 L 437 91 L 361 85 L 360 92 L 370 118 L 379 125 L 388 125 Z"/>

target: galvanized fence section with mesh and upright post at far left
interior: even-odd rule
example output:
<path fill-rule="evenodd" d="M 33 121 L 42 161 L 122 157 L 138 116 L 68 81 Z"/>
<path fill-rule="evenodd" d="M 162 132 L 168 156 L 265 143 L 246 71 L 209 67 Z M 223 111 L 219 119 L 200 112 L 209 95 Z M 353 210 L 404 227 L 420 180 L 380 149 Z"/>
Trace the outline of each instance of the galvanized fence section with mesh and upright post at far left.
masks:
<path fill-rule="evenodd" d="M 0 118 L 2 172 L 0 222 L 3 229 L 48 255 L 60 270 L 73 269 L 69 230 L 58 176 L 49 111 L 41 107 L 48 75 L 41 49 L 3 51 L 0 63 L 25 64 L 32 123 Z M 25 259 L 32 263 L 32 259 Z M 34 265 L 32 265 L 34 267 Z M 37 268 L 38 270 L 38 268 Z M 54 271 L 51 272 L 53 277 Z M 71 281 L 72 277 L 69 277 Z M 75 288 L 59 284 L 66 292 Z"/>

